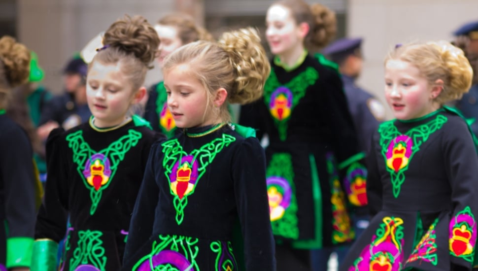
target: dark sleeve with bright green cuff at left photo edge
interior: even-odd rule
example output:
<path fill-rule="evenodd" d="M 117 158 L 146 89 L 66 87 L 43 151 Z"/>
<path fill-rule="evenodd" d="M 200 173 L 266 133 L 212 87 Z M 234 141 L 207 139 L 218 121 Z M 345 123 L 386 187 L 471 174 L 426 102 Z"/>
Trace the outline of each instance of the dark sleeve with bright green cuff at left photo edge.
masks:
<path fill-rule="evenodd" d="M 30 267 L 36 187 L 32 147 L 19 127 L 2 132 L 6 132 L 0 138 L 0 179 L 8 228 L 6 267 Z"/>

